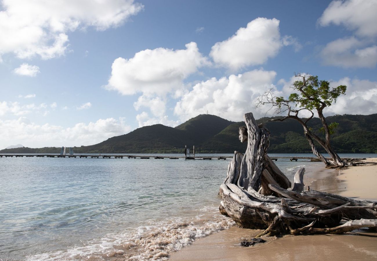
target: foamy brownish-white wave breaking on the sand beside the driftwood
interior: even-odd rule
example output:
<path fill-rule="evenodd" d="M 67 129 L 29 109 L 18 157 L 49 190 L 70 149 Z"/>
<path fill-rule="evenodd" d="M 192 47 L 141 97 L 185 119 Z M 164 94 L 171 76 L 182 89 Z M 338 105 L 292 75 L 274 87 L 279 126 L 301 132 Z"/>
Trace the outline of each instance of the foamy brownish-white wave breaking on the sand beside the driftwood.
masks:
<path fill-rule="evenodd" d="M 129 229 L 124 233 L 110 233 L 103 238 L 89 241 L 85 246 L 28 256 L 28 260 L 167 260 L 169 253 L 189 246 L 197 238 L 233 225 L 231 218 L 218 213 L 158 222 L 151 220 L 136 229 Z"/>

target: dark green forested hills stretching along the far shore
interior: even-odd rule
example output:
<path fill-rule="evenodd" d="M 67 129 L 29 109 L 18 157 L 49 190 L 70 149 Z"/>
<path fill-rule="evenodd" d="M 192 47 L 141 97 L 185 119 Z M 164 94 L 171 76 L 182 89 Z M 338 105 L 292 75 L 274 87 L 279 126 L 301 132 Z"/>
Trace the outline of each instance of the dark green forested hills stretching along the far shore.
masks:
<path fill-rule="evenodd" d="M 277 117 L 264 117 L 271 132 L 269 153 L 311 153 L 302 126 L 294 120 L 268 122 Z M 326 120 L 339 123 L 332 135 L 332 146 L 337 153 L 377 153 L 377 114 L 335 115 Z M 197 153 L 244 152 L 246 144 L 238 140 L 238 127 L 244 122 L 233 122 L 209 114 L 201 114 L 173 128 L 162 124 L 145 126 L 101 143 L 73 147 L 75 153 L 183 153 L 185 145 L 195 145 Z M 311 126 L 320 134 L 320 120 L 311 120 Z M 21 144 L 19 144 L 22 146 Z M 17 145 L 18 146 L 18 145 Z M 59 153 L 60 147 L 17 147 L 0 153 Z"/>

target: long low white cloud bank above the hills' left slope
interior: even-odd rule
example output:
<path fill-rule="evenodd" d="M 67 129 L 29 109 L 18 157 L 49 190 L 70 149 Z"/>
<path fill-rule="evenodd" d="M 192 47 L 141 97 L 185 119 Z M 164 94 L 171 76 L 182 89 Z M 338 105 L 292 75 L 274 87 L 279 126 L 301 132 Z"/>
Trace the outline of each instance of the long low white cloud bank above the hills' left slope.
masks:
<path fill-rule="evenodd" d="M 88 124 L 77 123 L 73 127 L 64 127 L 48 123 L 38 125 L 20 117 L 18 120 L 0 120 L 0 129 L 3 130 L 0 136 L 0 147 L 3 148 L 18 141 L 28 147 L 60 147 L 96 144 L 128 133 L 130 126 L 126 125 L 124 118 L 99 119 Z"/>

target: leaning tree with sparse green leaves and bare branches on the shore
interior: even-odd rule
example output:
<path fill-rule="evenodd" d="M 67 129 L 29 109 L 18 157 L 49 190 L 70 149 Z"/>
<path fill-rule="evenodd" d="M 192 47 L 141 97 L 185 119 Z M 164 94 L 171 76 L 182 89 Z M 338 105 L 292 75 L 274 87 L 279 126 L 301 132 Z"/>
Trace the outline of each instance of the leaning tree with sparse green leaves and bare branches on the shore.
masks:
<path fill-rule="evenodd" d="M 293 91 L 297 92 L 293 92 L 286 99 L 284 97 L 275 97 L 271 93 L 271 90 L 267 91 L 262 97 L 257 99 L 257 107 L 271 104 L 276 108 L 275 113 L 282 114 L 286 112 L 287 116 L 284 118 L 273 119 L 271 121 L 284 121 L 287 119 L 298 121 L 304 129 L 304 135 L 309 141 L 314 155 L 320 158 L 320 160 L 325 163 L 326 167 L 344 167 L 345 163 L 340 159 L 339 155 L 334 152 L 330 144 L 330 136 L 336 128 L 337 123 L 328 124 L 325 116 L 323 116 L 323 109 L 331 106 L 340 95 L 345 94 L 347 86 L 339 85 L 336 88 L 330 89 L 329 82 L 318 80 L 318 76 L 301 74 L 295 74 L 295 76 L 300 80 L 295 81 L 291 88 Z M 311 113 L 309 118 L 299 117 L 299 112 L 304 110 Z M 325 134 L 324 140 L 308 127 L 308 122 L 314 117 L 314 112 L 317 113 L 322 122 L 323 127 L 320 130 Z M 314 141 L 326 150 L 331 160 L 323 157 L 323 155 L 318 152 Z"/>

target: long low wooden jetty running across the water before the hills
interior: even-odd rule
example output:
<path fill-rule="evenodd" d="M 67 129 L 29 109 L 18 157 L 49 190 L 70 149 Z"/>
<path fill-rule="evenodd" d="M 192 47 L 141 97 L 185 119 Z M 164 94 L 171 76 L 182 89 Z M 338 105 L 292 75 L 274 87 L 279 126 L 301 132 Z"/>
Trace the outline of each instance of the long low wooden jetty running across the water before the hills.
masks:
<path fill-rule="evenodd" d="M 156 159 L 156 160 L 163 160 L 163 159 L 170 159 L 170 160 L 230 160 L 233 156 L 156 156 L 156 155 L 114 155 L 114 154 L 73 154 L 73 155 L 60 155 L 60 154 L 0 154 L 0 158 L 5 157 L 47 157 L 47 158 L 113 158 L 113 159 L 141 159 L 141 160 L 149 160 L 149 159 Z M 349 160 L 365 160 L 366 158 L 342 158 L 342 160 L 349 161 Z M 274 161 L 320 161 L 317 157 L 271 157 L 271 160 Z"/>

